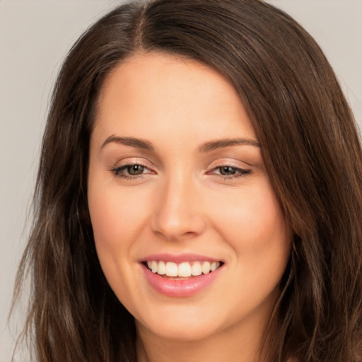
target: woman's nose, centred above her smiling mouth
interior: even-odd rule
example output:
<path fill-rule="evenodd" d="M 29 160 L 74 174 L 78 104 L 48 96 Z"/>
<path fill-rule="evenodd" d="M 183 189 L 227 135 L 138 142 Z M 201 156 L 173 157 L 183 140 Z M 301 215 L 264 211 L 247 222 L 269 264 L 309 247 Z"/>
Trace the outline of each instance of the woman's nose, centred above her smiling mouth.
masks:
<path fill-rule="evenodd" d="M 192 177 L 172 177 L 160 185 L 153 214 L 153 232 L 170 241 L 201 235 L 206 218 L 200 192 Z"/>

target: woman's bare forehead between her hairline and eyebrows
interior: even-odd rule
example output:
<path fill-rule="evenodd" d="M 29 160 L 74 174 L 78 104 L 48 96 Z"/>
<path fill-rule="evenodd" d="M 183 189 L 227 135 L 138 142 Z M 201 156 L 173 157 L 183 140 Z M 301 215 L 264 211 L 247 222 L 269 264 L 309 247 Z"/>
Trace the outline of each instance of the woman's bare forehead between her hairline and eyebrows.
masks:
<path fill-rule="evenodd" d="M 180 136 L 196 132 L 211 138 L 255 138 L 247 112 L 225 77 L 194 60 L 154 52 L 129 57 L 107 76 L 97 129 L 105 137 L 145 131 L 152 137 L 168 129 L 170 136 L 177 136 L 172 132 L 177 130 Z"/>

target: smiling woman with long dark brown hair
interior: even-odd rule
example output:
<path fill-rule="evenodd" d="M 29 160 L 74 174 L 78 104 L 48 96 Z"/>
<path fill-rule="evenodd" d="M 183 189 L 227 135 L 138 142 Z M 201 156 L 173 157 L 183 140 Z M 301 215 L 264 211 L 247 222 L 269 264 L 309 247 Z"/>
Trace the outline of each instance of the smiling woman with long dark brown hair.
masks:
<path fill-rule="evenodd" d="M 361 166 L 285 13 L 119 6 L 54 90 L 18 278 L 37 360 L 361 361 Z"/>

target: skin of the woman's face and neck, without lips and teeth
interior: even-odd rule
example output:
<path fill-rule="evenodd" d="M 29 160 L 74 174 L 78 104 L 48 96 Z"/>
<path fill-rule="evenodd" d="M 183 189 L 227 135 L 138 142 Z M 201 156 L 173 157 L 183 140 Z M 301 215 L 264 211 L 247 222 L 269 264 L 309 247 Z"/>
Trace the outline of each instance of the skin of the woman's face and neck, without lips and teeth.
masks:
<path fill-rule="evenodd" d="M 136 320 L 139 362 L 255 361 L 291 233 L 233 86 L 193 60 L 134 54 L 98 107 L 89 211 L 107 281 Z M 224 264 L 204 290 L 173 298 L 144 276 L 140 260 L 155 253 Z"/>

